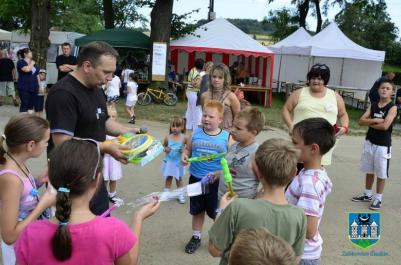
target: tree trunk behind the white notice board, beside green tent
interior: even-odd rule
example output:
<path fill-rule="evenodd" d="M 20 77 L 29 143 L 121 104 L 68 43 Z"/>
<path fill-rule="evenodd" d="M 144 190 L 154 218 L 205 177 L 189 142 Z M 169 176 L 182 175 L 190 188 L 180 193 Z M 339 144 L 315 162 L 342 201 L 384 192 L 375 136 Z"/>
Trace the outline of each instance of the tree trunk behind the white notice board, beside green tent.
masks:
<path fill-rule="evenodd" d="M 151 35 L 150 35 L 150 62 L 153 60 L 153 43 L 165 42 L 167 43 L 167 54 L 170 47 L 171 35 L 171 20 L 173 17 L 173 4 L 174 0 L 156 0 L 156 3 L 151 12 Z M 167 73 L 168 56 L 166 56 L 166 73 Z M 149 79 L 152 77 L 152 65 L 149 69 Z M 165 81 L 152 81 L 151 87 L 157 89 L 159 86 L 168 87 L 167 74 Z"/>

